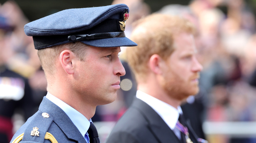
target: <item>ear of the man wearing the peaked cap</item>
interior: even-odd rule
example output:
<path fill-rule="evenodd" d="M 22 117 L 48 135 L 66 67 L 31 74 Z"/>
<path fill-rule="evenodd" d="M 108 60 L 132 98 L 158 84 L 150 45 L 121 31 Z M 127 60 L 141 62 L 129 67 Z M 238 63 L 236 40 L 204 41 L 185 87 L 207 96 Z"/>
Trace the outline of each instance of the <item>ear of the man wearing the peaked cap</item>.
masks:
<path fill-rule="evenodd" d="M 64 71 L 66 71 L 66 73 L 68 74 L 74 73 L 74 65 L 73 65 L 74 63 L 72 63 L 74 58 L 75 58 L 75 54 L 70 50 L 64 50 L 60 53 L 59 61 Z"/>

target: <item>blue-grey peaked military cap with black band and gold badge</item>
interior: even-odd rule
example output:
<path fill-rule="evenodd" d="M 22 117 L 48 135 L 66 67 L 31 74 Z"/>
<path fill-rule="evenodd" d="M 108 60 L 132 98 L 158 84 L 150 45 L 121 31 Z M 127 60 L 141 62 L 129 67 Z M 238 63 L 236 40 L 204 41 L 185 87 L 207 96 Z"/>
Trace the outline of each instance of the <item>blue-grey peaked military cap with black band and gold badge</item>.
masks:
<path fill-rule="evenodd" d="M 117 4 L 59 11 L 24 26 L 32 36 L 35 49 L 81 41 L 95 47 L 137 46 L 125 37 L 129 8 Z"/>

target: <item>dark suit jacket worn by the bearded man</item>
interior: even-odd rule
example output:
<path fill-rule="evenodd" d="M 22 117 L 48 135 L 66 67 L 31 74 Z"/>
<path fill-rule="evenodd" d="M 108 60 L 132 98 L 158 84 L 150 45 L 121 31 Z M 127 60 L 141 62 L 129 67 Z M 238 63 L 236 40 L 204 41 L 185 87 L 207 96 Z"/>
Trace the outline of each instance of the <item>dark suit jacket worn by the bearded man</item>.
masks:
<path fill-rule="evenodd" d="M 188 126 L 190 138 L 197 136 Z M 135 98 L 132 105 L 117 121 L 106 143 L 181 143 L 164 120 L 147 103 Z"/>

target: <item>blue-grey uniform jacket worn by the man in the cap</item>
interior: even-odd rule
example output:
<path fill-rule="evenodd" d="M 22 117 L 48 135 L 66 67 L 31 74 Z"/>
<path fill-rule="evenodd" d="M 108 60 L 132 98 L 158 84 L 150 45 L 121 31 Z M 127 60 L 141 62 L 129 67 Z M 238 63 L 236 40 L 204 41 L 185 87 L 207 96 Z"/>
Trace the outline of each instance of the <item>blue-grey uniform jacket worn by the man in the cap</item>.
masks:
<path fill-rule="evenodd" d="M 44 112 L 48 113 L 50 117 L 44 118 L 42 116 Z M 38 128 L 39 136 L 31 135 L 34 127 Z M 11 142 L 18 135 L 24 133 L 20 143 L 50 143 L 50 140 L 44 139 L 46 132 L 51 133 L 59 143 L 86 143 L 83 135 L 67 114 L 46 97 L 43 98 L 39 110 L 15 133 Z"/>

